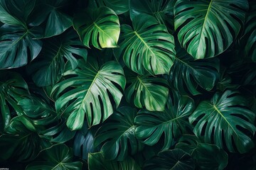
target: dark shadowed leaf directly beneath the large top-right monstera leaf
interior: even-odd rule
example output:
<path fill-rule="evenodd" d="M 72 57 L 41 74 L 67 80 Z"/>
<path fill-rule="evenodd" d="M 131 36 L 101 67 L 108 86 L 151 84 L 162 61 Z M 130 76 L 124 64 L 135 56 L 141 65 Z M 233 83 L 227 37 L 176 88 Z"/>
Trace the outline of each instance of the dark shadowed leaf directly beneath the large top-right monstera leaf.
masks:
<path fill-rule="evenodd" d="M 219 67 L 218 58 L 194 61 L 191 55 L 179 48 L 169 74 L 169 84 L 183 95 L 201 94 L 199 89 L 210 91 L 218 82 Z"/>

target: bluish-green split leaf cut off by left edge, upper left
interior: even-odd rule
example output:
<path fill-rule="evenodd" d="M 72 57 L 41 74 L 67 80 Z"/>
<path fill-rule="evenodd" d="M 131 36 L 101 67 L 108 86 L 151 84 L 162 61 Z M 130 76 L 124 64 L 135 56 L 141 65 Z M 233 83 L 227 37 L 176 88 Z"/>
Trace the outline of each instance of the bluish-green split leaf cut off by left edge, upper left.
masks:
<path fill-rule="evenodd" d="M 34 60 L 42 48 L 33 30 L 4 24 L 0 28 L 0 69 L 22 67 Z"/>

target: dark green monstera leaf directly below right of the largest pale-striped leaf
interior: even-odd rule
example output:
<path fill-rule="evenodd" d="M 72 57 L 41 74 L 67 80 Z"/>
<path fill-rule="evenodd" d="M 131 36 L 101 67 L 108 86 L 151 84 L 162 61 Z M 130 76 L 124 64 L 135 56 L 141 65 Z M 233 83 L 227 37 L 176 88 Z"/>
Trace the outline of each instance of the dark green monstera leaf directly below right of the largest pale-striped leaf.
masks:
<path fill-rule="evenodd" d="M 134 108 L 119 108 L 97 131 L 94 145 L 97 147 L 102 144 L 101 152 L 105 159 L 122 161 L 127 157 L 128 152 L 135 154 L 142 149 L 142 144 L 135 137 L 136 114 L 137 111 Z"/>

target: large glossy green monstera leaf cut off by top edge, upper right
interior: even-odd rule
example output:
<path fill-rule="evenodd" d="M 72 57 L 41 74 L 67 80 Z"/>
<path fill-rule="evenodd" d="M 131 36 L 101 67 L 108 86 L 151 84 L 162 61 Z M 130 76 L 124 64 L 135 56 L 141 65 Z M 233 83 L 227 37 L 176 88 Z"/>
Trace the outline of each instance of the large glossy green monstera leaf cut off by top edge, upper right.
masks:
<path fill-rule="evenodd" d="M 195 59 L 215 57 L 237 38 L 248 2 L 178 0 L 174 8 L 178 40 Z"/>

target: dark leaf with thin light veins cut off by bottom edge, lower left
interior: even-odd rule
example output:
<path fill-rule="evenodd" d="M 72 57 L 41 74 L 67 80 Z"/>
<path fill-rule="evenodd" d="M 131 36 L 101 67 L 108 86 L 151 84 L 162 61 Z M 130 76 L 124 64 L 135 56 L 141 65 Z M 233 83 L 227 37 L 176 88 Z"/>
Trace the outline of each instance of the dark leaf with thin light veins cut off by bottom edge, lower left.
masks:
<path fill-rule="evenodd" d="M 80 170 L 82 162 L 73 161 L 73 152 L 64 144 L 53 145 L 44 149 L 38 155 L 39 161 L 32 162 L 26 166 L 26 170 L 33 169 L 58 169 L 58 170 Z"/>

